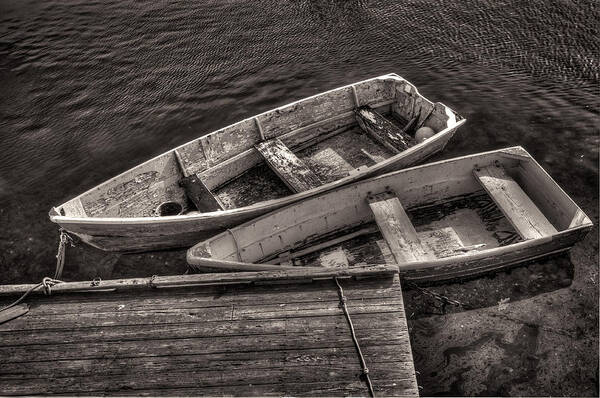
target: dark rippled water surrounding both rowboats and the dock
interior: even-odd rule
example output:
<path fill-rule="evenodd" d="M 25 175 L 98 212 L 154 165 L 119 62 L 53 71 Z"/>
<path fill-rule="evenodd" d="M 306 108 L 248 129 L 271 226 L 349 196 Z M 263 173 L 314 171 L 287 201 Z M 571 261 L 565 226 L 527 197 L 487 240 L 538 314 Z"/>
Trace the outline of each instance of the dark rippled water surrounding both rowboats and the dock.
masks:
<path fill-rule="evenodd" d="M 468 119 L 437 159 L 522 145 L 597 225 L 599 20 L 593 1 L 0 0 L 0 283 L 53 273 L 51 206 L 219 127 L 390 72 Z M 547 319 L 427 318 L 409 291 L 422 393 L 597 394 L 597 236 L 446 288 Z M 72 280 L 185 270 L 181 252 L 74 250 Z M 547 332 L 555 321 L 576 325 Z"/>

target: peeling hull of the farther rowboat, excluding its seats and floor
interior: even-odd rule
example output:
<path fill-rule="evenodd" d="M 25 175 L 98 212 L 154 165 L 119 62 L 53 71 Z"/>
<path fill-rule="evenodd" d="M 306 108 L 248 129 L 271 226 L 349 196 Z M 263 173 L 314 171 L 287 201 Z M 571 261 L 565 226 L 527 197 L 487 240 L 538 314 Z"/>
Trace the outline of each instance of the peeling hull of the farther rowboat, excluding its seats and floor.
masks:
<path fill-rule="evenodd" d="M 248 205 L 218 203 L 210 209 L 224 210 L 202 213 L 195 211 L 202 206 L 196 202 L 190 205 L 189 192 L 182 184 L 190 176 L 202 182 L 205 194 L 213 195 L 230 182 L 247 178 L 246 172 L 264 164 L 256 149 L 258 143 L 276 138 L 294 151 L 310 148 L 356 125 L 354 110 L 358 106 L 370 106 L 407 120 L 411 118 L 414 125 L 434 128 L 436 134 L 399 153 L 390 152 L 389 157 L 376 158 L 365 152 L 373 164 L 352 166 L 346 162 L 346 174 L 336 174 L 334 179 L 323 180 L 324 184 L 306 191 L 293 193 L 292 190 L 288 196 L 269 196 L 271 191 L 277 190 L 255 184 L 259 188 Z M 106 251 L 189 247 L 280 207 L 344 184 L 421 163 L 443 150 L 464 122 L 464 118 L 444 104 L 421 96 L 401 77 L 380 76 L 293 102 L 201 136 L 53 208 L 50 220 Z M 330 154 L 337 155 L 335 148 L 330 149 Z M 331 169 L 335 170 L 336 166 Z M 252 196 L 244 190 L 240 192 L 241 196 Z M 219 202 L 218 195 L 214 195 L 213 202 Z M 163 216 L 161 213 L 159 216 L 157 209 L 163 204 L 179 205 L 184 214 Z"/>

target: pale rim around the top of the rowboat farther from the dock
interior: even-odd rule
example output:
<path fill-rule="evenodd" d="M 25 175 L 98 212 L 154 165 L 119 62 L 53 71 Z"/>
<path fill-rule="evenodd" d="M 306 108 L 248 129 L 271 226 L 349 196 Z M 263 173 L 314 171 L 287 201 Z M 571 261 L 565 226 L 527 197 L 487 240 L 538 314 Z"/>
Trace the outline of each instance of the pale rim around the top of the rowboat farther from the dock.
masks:
<path fill-rule="evenodd" d="M 392 78 L 393 80 L 396 80 L 396 81 L 407 82 L 408 84 L 410 84 L 416 90 L 416 93 L 419 95 L 419 97 L 425 99 L 427 102 L 433 104 L 434 106 L 436 104 L 439 104 L 439 105 L 443 106 L 446 109 L 447 112 L 448 111 L 452 112 L 452 114 L 454 115 L 454 119 L 455 119 L 454 120 L 454 124 L 452 126 L 447 126 L 443 130 L 441 130 L 438 133 L 436 133 L 433 137 L 431 137 L 431 138 L 429 138 L 429 139 L 427 139 L 427 140 L 425 140 L 423 142 L 420 142 L 420 143 L 418 143 L 418 144 L 416 144 L 416 145 L 414 145 L 414 146 L 406 149 L 405 151 L 402 151 L 402 152 L 400 152 L 400 153 L 398 153 L 398 154 L 396 154 L 394 156 L 391 156 L 391 157 L 389 157 L 389 158 L 387 158 L 387 159 L 385 159 L 385 160 L 383 160 L 381 162 L 375 163 L 374 165 L 365 168 L 363 171 L 359 171 L 359 172 L 357 172 L 355 174 L 348 175 L 348 176 L 343 177 L 343 178 L 341 178 L 339 180 L 336 180 L 336 181 L 333 181 L 333 182 L 330 182 L 330 183 L 327 183 L 327 184 L 323 184 L 323 185 L 321 185 L 319 187 L 316 187 L 316 188 L 313 188 L 313 189 L 310 189 L 310 190 L 307 190 L 307 191 L 303 191 L 303 192 L 299 192 L 299 193 L 296 193 L 296 194 L 288 195 L 288 196 L 285 196 L 285 197 L 282 197 L 282 198 L 272 199 L 272 200 L 269 200 L 269 201 L 261 201 L 261 202 L 258 202 L 258 203 L 255 203 L 255 204 L 252 204 L 252 205 L 249 205 L 249 206 L 244 206 L 244 207 L 239 207 L 239 208 L 229 209 L 229 210 L 219 210 L 219 211 L 214 211 L 214 212 L 205 212 L 205 213 L 199 213 L 199 214 L 182 214 L 182 215 L 176 215 L 176 216 L 150 216 L 150 217 L 90 217 L 90 216 L 85 216 L 85 217 L 78 216 L 78 217 L 74 217 L 74 216 L 63 216 L 63 215 L 60 215 L 59 212 L 58 212 L 58 209 L 61 208 L 61 207 L 63 207 L 68 202 L 76 200 L 76 199 L 79 199 L 79 198 L 82 198 L 85 195 L 87 195 L 87 194 L 93 192 L 94 190 L 98 189 L 99 187 L 107 185 L 111 181 L 113 181 L 113 180 L 115 180 L 115 179 L 117 179 L 117 178 L 119 178 L 121 176 L 127 175 L 131 171 L 133 171 L 133 170 L 135 170 L 135 169 L 137 169 L 137 168 L 139 168 L 139 167 L 141 167 L 141 166 L 143 166 L 145 164 L 148 164 L 148 163 L 150 163 L 150 162 L 152 162 L 152 161 L 154 161 L 154 160 L 156 160 L 156 159 L 158 159 L 158 158 L 160 158 L 162 156 L 165 156 L 165 155 L 167 155 L 169 153 L 172 153 L 172 152 L 174 153 L 176 150 L 178 150 L 180 148 L 183 148 L 183 147 L 185 147 L 185 146 L 187 146 L 187 145 L 189 145 L 189 144 L 191 144 L 191 143 L 193 143 L 193 142 L 195 142 L 195 141 L 197 141 L 197 140 L 199 140 L 199 139 L 201 139 L 203 137 L 207 137 L 207 136 L 210 136 L 210 135 L 213 135 L 213 134 L 218 134 L 221 131 L 223 131 L 225 129 L 228 129 L 228 128 L 232 127 L 232 126 L 235 126 L 237 124 L 246 122 L 248 120 L 252 120 L 254 118 L 257 118 L 259 116 L 265 115 L 265 114 L 270 113 L 270 112 L 274 112 L 274 111 L 276 111 L 278 109 L 283 109 L 283 108 L 287 108 L 287 107 L 293 106 L 293 105 L 295 105 L 297 103 L 300 103 L 300 102 L 303 102 L 303 101 L 307 101 L 307 100 L 310 100 L 312 98 L 316 98 L 316 97 L 319 97 L 319 96 L 322 96 L 322 95 L 325 95 L 325 94 L 328 94 L 328 93 L 331 93 L 331 92 L 334 92 L 334 91 L 342 90 L 342 89 L 345 89 L 345 88 L 348 88 L 348 87 L 353 87 L 353 86 L 361 84 L 361 83 L 365 83 L 365 82 L 369 82 L 369 81 L 374 81 L 374 80 L 385 80 L 386 78 Z M 181 145 L 179 145 L 177 147 L 171 148 L 171 149 L 169 149 L 169 150 L 167 150 L 167 151 L 165 151 L 165 152 L 163 152 L 163 153 L 161 153 L 161 154 L 159 154 L 159 155 L 157 155 L 157 156 L 155 156 L 155 157 L 153 157 L 151 159 L 148 159 L 145 162 L 142 162 L 142 163 L 140 163 L 140 164 L 138 164 L 138 165 L 136 165 L 136 166 L 134 166 L 134 167 L 132 167 L 132 168 L 130 168 L 130 169 L 128 169 L 128 170 L 126 170 L 126 171 L 124 171 L 124 172 L 116 175 L 116 176 L 114 176 L 114 177 L 111 177 L 110 179 L 108 179 L 108 180 L 106 180 L 106 181 L 104 181 L 104 182 L 102 182 L 102 183 L 100 183 L 100 184 L 98 184 L 98 185 L 96 185 L 96 186 L 94 186 L 94 187 L 86 190 L 85 192 L 83 192 L 83 193 L 81 193 L 81 194 L 73 197 L 72 199 L 69 199 L 69 200 L 65 201 L 64 203 L 62 203 L 62 204 L 60 204 L 58 206 L 52 207 L 50 209 L 48 215 L 49 215 L 50 221 L 52 221 L 54 223 L 57 223 L 57 224 L 90 224 L 90 225 L 103 225 L 103 224 L 155 224 L 155 223 L 159 223 L 160 224 L 160 223 L 170 223 L 170 222 L 186 222 L 186 221 L 203 220 L 203 219 L 210 219 L 210 218 L 213 218 L 213 217 L 222 217 L 222 216 L 226 216 L 226 215 L 244 214 L 246 212 L 252 212 L 252 211 L 260 210 L 260 209 L 263 209 L 263 208 L 269 208 L 269 207 L 272 207 L 272 206 L 286 206 L 287 202 L 290 202 L 290 203 L 296 202 L 297 200 L 300 200 L 302 198 L 305 198 L 305 197 L 308 197 L 308 196 L 312 196 L 316 192 L 328 192 L 328 191 L 330 191 L 332 189 L 337 188 L 340 185 L 345 185 L 345 184 L 348 184 L 350 182 L 360 180 L 362 177 L 364 177 L 364 176 L 366 176 L 368 174 L 376 173 L 378 170 L 380 170 L 382 168 L 385 168 L 385 167 L 389 166 L 390 164 L 393 164 L 394 162 L 396 162 L 396 161 L 398 161 L 398 160 L 400 160 L 400 159 L 402 159 L 402 158 L 404 158 L 404 157 L 406 157 L 406 156 L 408 156 L 408 155 L 410 155 L 410 154 L 412 154 L 414 152 L 417 152 L 418 150 L 422 149 L 423 147 L 429 146 L 429 145 L 435 143 L 436 141 L 439 141 L 439 140 L 442 140 L 443 138 L 446 138 L 446 136 L 448 136 L 448 135 L 454 134 L 454 132 L 460 126 L 462 126 L 466 122 L 466 120 L 467 120 L 466 118 L 464 118 L 458 112 L 454 111 L 452 108 L 448 107 L 447 105 L 443 104 L 442 102 L 432 102 L 429 99 L 427 99 L 426 97 L 424 97 L 423 95 L 421 95 L 419 93 L 419 90 L 412 83 L 410 83 L 408 80 L 404 79 L 403 77 L 401 77 L 401 76 L 399 76 L 399 75 L 397 75 L 395 73 L 389 73 L 389 74 L 386 74 L 386 75 L 381 75 L 381 76 L 373 77 L 373 78 L 370 78 L 370 79 L 361 80 L 359 82 L 355 82 L 355 83 L 352 83 L 352 84 L 347 84 L 347 85 L 344 85 L 344 86 L 341 86 L 341 87 L 337 87 L 337 88 L 334 88 L 334 89 L 331 89 L 331 90 L 327 90 L 327 91 L 324 91 L 324 92 L 321 92 L 321 93 L 317 93 L 317 94 L 309 96 L 309 97 L 304 97 L 304 98 L 299 99 L 297 101 L 293 101 L 293 102 L 290 102 L 288 104 L 279 106 L 277 108 L 269 109 L 269 110 L 267 110 L 265 112 L 262 112 L 260 114 L 250 116 L 250 117 L 248 117 L 246 119 L 243 119 L 241 121 L 235 122 L 235 123 L 230 124 L 228 126 L 222 127 L 222 128 L 220 128 L 218 130 L 215 130 L 215 131 L 213 131 L 213 132 L 211 132 L 209 134 L 206 134 L 206 135 L 194 138 L 194 139 L 192 139 L 192 140 L 190 140 L 190 141 L 188 141 L 188 142 L 186 142 L 184 144 L 181 144 Z M 306 126 L 304 126 L 304 127 L 306 127 Z M 300 128 L 300 129 L 303 129 L 304 127 Z"/>

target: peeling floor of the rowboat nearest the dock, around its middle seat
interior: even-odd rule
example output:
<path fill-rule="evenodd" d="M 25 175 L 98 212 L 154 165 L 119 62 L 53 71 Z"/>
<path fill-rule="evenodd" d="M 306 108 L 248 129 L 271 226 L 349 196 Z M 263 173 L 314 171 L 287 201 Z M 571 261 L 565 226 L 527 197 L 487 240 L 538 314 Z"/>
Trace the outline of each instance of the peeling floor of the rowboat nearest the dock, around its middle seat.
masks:
<path fill-rule="evenodd" d="M 485 192 L 406 211 L 417 237 L 433 258 L 464 255 L 521 240 Z M 349 239 L 346 239 L 349 238 Z M 333 243 L 333 244 L 330 244 Z M 302 247 L 265 259 L 265 263 L 297 266 L 352 267 L 395 263 L 375 222 L 306 242 Z"/>

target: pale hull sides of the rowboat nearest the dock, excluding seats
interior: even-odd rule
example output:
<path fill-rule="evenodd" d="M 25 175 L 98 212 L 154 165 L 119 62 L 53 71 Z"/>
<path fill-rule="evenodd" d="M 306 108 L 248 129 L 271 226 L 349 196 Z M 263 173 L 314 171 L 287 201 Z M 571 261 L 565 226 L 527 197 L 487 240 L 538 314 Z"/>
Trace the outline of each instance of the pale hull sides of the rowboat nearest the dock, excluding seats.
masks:
<path fill-rule="evenodd" d="M 506 246 L 496 243 L 496 247 L 469 249 L 464 253 L 459 250 L 455 254 L 405 261 L 399 261 L 398 257 L 378 257 L 377 261 L 384 259 L 386 263 L 395 262 L 400 274 L 415 282 L 464 278 L 568 250 L 592 228 L 590 219 L 539 164 L 524 149 L 514 147 L 388 173 L 292 204 L 198 243 L 188 250 L 188 263 L 199 270 L 220 271 L 297 268 L 299 265 L 290 263 L 289 259 L 296 256 L 301 258 L 305 255 L 300 254 L 302 252 L 312 253 L 311 246 L 319 247 L 314 253 L 320 256 L 319 253 L 327 253 L 330 250 L 328 248 L 339 245 L 340 238 L 337 237 L 344 234 L 350 236 L 352 234 L 348 234 L 348 231 L 356 231 L 360 227 L 368 229 L 365 226 L 374 222 L 367 200 L 372 195 L 395 192 L 400 203 L 409 209 L 448 203 L 449 200 L 468 195 L 485 195 L 473 170 L 487 165 L 510 170 L 510 174 L 519 180 L 523 190 L 556 230 L 538 238 L 523 238 L 523 241 Z M 456 225 L 460 229 L 467 226 L 463 220 L 456 221 Z M 428 228 L 433 228 L 433 224 L 424 230 Z M 438 230 L 430 231 L 437 233 Z M 469 233 L 476 240 L 481 238 L 476 232 Z M 467 236 L 468 233 L 461 231 L 461 235 Z M 327 246 L 323 243 L 323 236 L 325 240 L 335 241 L 335 244 Z M 389 240 L 377 241 L 375 246 L 381 247 L 381 244 L 388 247 Z M 344 254 L 342 256 L 345 257 Z M 371 260 L 376 259 L 357 259 L 355 253 L 352 256 L 353 261 L 360 264 L 370 264 Z M 310 263 L 311 266 L 315 266 L 314 261 Z M 316 262 L 320 266 L 329 266 L 323 260 Z M 340 266 L 340 262 L 337 264 Z"/>

